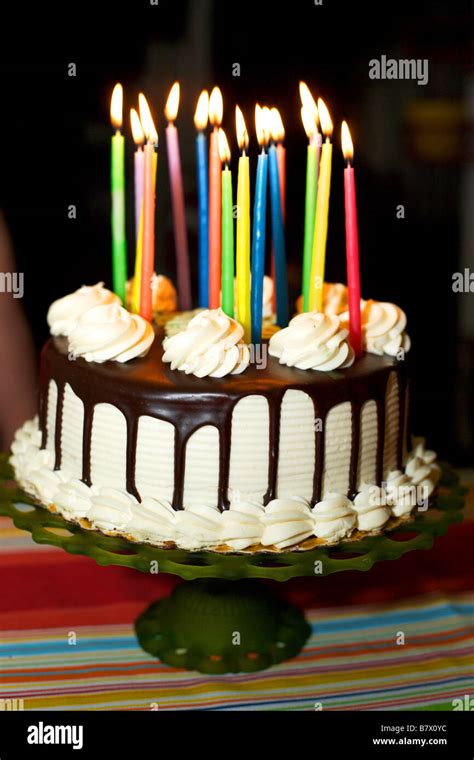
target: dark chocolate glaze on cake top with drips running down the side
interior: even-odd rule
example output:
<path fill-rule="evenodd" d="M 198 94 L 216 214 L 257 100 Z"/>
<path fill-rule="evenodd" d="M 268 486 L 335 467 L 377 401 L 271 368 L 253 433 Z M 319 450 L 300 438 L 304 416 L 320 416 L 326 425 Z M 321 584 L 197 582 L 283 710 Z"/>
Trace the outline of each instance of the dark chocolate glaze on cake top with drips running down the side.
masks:
<path fill-rule="evenodd" d="M 141 359 L 125 364 L 105 362 L 97 364 L 82 358 L 68 358 L 66 338 L 51 338 L 43 349 L 40 373 L 40 425 L 43 446 L 46 445 L 46 417 L 49 381 L 58 385 L 58 412 L 56 414 L 55 452 L 56 468 L 61 466 L 61 425 L 64 387 L 66 383 L 84 403 L 83 480 L 90 484 L 90 446 L 94 406 L 112 403 L 124 414 L 127 421 L 127 490 L 137 498 L 135 487 L 135 454 L 138 419 L 146 414 L 171 422 L 175 427 L 175 489 L 173 506 L 183 506 L 185 448 L 190 435 L 203 425 L 214 425 L 219 431 L 219 487 L 218 504 L 228 506 L 227 490 L 231 446 L 232 412 L 235 404 L 248 395 L 263 395 L 269 404 L 270 457 L 268 490 L 265 503 L 276 495 L 280 406 L 288 389 L 301 390 L 313 401 L 315 416 L 324 420 L 330 409 L 346 401 L 352 405 L 352 460 L 350 493 L 355 490 L 359 453 L 360 410 L 365 401 L 373 399 L 378 409 L 377 482 L 381 480 L 383 464 L 384 409 L 388 378 L 395 371 L 399 389 L 399 442 L 398 466 L 403 450 L 403 419 L 406 396 L 406 361 L 391 357 L 364 354 L 352 367 L 332 372 L 299 370 L 279 364 L 267 356 L 267 366 L 258 369 L 251 364 L 240 375 L 224 378 L 197 378 L 164 364 L 163 330 L 156 329 L 156 339 L 149 353 Z M 323 426 L 324 427 L 324 426 Z M 316 436 L 316 464 L 313 502 L 321 493 L 324 466 L 324 435 Z"/>

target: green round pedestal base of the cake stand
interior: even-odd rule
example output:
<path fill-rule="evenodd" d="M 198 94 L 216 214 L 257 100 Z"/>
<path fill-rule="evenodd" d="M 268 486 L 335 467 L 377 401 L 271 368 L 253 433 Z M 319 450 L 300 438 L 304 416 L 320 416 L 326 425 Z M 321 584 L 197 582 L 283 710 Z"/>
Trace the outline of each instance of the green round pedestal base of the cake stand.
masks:
<path fill-rule="evenodd" d="M 146 652 L 201 673 L 264 670 L 295 657 L 310 635 L 302 613 L 259 582 L 194 580 L 135 622 Z"/>

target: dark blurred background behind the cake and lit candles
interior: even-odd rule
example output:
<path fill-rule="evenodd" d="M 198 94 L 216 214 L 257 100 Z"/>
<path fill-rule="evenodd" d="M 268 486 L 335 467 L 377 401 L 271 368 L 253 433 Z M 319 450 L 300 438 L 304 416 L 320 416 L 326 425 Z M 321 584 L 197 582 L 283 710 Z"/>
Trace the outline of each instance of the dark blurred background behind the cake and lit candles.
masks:
<path fill-rule="evenodd" d="M 83 283 L 111 284 L 109 103 L 116 81 L 125 90 L 130 271 L 128 113 L 143 90 L 161 137 L 157 269 L 176 281 L 163 108 L 178 78 L 193 264 L 193 113 L 201 89 L 219 84 L 234 169 L 235 103 L 251 127 L 253 168 L 255 102 L 281 110 L 287 255 L 292 298 L 298 295 L 307 144 L 298 81 L 304 79 L 315 97 L 324 98 L 335 123 L 327 279 L 346 280 L 340 151 L 340 122 L 346 118 L 356 150 L 363 295 L 394 301 L 407 312 L 414 429 L 441 456 L 470 464 L 474 293 L 453 293 L 452 275 L 469 266 L 474 271 L 472 21 L 468 2 L 159 0 L 155 6 L 130 0 L 57 8 L 22 3 L 8 11 L 1 38 L 6 62 L 0 64 L 0 200 L 25 274 L 24 307 L 38 348 L 47 337 L 46 310 L 54 298 Z M 428 58 L 428 84 L 371 80 L 369 61 L 381 55 Z M 77 76 L 68 76 L 69 63 L 76 64 Z M 234 63 L 241 66 L 240 77 L 232 75 Z M 68 219 L 69 204 L 77 206 L 76 220 Z M 400 204 L 404 219 L 397 219 Z"/>

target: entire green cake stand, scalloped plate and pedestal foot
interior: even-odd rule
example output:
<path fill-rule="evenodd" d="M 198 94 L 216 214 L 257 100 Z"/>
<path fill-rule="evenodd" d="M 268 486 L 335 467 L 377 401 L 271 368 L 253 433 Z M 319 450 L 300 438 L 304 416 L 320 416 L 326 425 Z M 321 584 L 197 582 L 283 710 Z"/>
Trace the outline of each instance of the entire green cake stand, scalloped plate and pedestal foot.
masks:
<path fill-rule="evenodd" d="M 148 607 L 136 620 L 142 648 L 174 667 L 202 673 L 263 670 L 296 656 L 310 634 L 303 614 L 255 579 L 321 578 L 344 570 L 367 571 L 415 549 L 430 549 L 462 520 L 465 489 L 448 465 L 429 510 L 416 512 L 392 533 L 308 551 L 219 554 L 158 549 L 85 530 L 38 506 L 13 481 L 0 459 L 0 515 L 39 544 L 83 554 L 99 565 L 143 573 L 171 573 L 188 583 Z M 232 581 L 232 583 L 230 582 Z"/>

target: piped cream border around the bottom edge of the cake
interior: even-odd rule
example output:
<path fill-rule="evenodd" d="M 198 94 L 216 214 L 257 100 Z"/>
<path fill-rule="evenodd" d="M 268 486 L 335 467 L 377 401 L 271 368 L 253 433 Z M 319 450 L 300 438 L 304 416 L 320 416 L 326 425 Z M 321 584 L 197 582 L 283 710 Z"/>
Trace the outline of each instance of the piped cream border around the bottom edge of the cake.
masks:
<path fill-rule="evenodd" d="M 257 544 L 268 551 L 296 547 L 307 538 L 334 545 L 355 531 L 381 533 L 391 518 L 408 519 L 418 506 L 428 509 L 441 470 L 436 454 L 414 439 L 403 471 L 389 473 L 382 486 L 363 484 L 351 501 L 343 494 L 327 494 L 311 508 L 298 496 L 277 498 L 266 506 L 233 495 L 230 508 L 220 512 L 208 504 L 174 510 L 164 499 L 131 494 L 111 487 L 87 486 L 62 470 L 54 470 L 54 456 L 41 449 L 38 418 L 17 430 L 10 462 L 20 486 L 44 506 L 54 507 L 68 520 L 132 540 L 198 551 L 228 546 L 239 552 Z"/>

